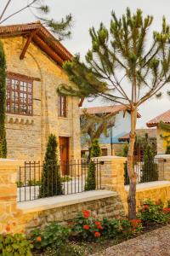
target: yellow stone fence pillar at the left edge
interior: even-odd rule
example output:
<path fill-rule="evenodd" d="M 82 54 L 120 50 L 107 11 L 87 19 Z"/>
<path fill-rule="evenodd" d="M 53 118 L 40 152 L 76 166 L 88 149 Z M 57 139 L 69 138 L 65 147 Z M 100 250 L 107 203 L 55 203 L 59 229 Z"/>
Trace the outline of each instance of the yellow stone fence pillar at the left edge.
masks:
<path fill-rule="evenodd" d="M 0 233 L 17 210 L 17 170 L 23 161 L 0 159 Z"/>

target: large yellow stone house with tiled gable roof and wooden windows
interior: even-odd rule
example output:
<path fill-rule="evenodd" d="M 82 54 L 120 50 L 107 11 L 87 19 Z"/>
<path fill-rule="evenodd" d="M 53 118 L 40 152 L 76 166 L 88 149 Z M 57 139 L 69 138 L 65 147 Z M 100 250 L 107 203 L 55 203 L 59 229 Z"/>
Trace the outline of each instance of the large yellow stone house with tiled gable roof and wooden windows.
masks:
<path fill-rule="evenodd" d="M 68 82 L 62 64 L 71 53 L 40 22 L 0 26 L 0 38 L 8 72 L 8 158 L 42 160 L 54 133 L 60 159 L 79 159 L 79 100 L 56 92 Z"/>

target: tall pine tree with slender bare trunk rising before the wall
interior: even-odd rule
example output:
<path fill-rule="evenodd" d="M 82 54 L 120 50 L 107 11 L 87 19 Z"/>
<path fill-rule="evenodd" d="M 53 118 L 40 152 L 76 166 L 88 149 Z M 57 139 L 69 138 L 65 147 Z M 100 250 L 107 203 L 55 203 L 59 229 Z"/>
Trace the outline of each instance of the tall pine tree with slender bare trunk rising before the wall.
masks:
<path fill-rule="evenodd" d="M 90 29 L 92 47 L 85 61 L 76 55 L 64 65 L 72 84 L 60 84 L 59 93 L 77 97 L 102 96 L 110 104 L 122 104 L 131 114 L 127 154 L 130 179 L 127 196 L 128 218 L 136 218 L 137 175 L 133 168 L 138 108 L 170 82 L 170 27 L 165 17 L 160 32 L 150 33 L 153 17 L 143 17 L 142 10 L 117 17 L 111 13 L 108 30 L 100 23 L 99 30 Z M 148 43 L 149 42 L 149 43 Z"/>

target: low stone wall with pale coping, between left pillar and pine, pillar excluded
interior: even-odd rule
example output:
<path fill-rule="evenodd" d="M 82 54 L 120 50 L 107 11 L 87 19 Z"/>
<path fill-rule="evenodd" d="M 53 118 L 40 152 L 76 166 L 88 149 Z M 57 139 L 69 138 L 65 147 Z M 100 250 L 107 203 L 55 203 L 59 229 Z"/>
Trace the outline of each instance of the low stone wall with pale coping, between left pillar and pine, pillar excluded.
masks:
<path fill-rule="evenodd" d="M 11 221 L 13 232 L 43 227 L 51 222 L 67 224 L 82 209 L 90 210 L 97 218 L 124 216 L 122 201 L 116 192 L 96 190 L 77 195 L 62 195 L 18 204 L 19 211 Z M 15 225 L 13 225 L 13 223 Z M 10 223 L 9 223 L 10 224 Z"/>

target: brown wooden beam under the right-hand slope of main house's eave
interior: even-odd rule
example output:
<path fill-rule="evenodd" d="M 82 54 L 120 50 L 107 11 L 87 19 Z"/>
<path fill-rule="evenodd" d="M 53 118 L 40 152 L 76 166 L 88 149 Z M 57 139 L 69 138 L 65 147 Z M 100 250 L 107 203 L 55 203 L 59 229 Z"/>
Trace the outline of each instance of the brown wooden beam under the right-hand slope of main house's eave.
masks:
<path fill-rule="evenodd" d="M 53 49 L 51 49 L 48 44 L 44 43 L 41 38 L 39 38 L 37 35 L 34 36 L 32 40 L 35 44 L 37 44 L 40 49 L 42 49 L 47 55 L 49 55 L 56 63 L 59 64 L 59 66 L 63 66 L 63 60 L 57 55 Z"/>

